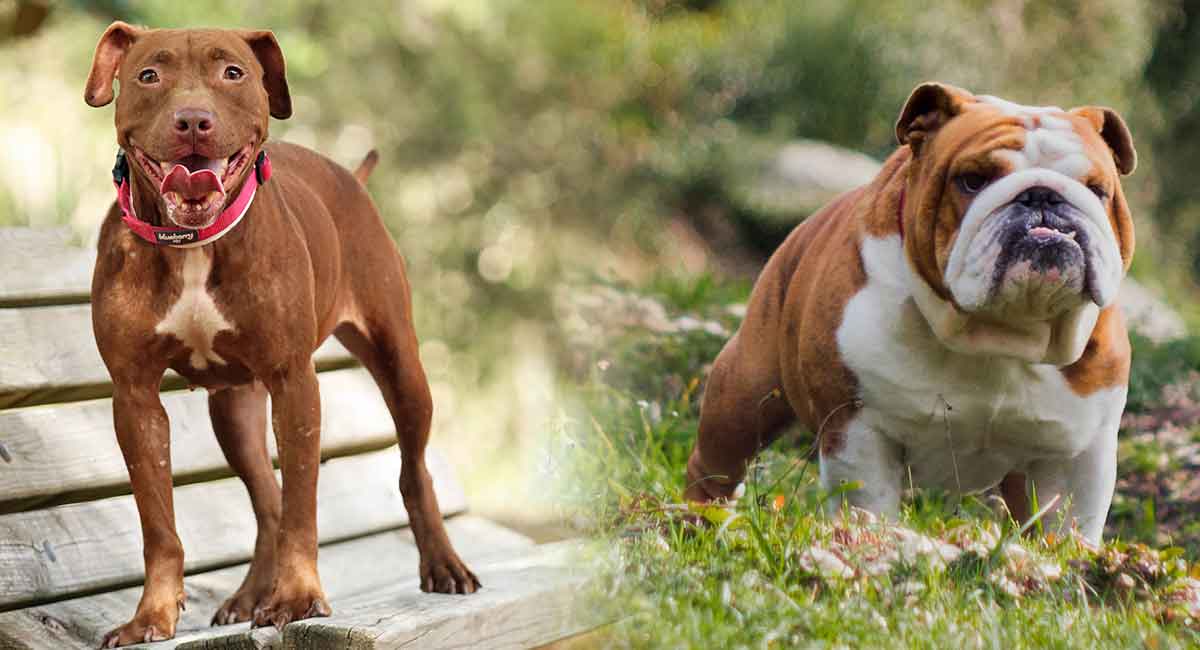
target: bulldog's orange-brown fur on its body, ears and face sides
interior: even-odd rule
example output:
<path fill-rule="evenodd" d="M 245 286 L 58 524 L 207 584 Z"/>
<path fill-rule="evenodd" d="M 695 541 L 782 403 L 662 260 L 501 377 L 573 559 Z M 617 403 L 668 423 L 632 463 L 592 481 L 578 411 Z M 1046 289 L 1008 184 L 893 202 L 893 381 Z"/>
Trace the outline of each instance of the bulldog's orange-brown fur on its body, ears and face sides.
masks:
<path fill-rule="evenodd" d="M 955 121 L 949 122 L 952 116 Z M 1121 185 L 1108 180 L 1133 170 L 1136 156 L 1128 130 L 1104 108 L 1078 108 L 1069 119 L 1091 142 L 1096 168 L 1105 170 L 1090 182 L 1111 193 L 1109 217 L 1128 270 L 1133 221 Z M 983 154 L 996 148 L 994 140 L 971 140 L 980 125 L 995 121 L 995 109 L 974 104 L 965 91 L 941 84 L 919 88 L 900 116 L 901 146 L 876 177 L 797 225 L 772 254 L 742 326 L 709 374 L 688 459 L 685 499 L 731 498 L 750 461 L 793 422 L 816 433 L 824 456 L 841 450 L 846 423 L 862 404 L 858 380 L 840 357 L 836 331 L 846 303 L 866 283 L 862 241 L 900 233 L 902 210 L 910 257 L 935 293 L 949 299 L 942 271 L 966 206 L 961 197 L 942 192 L 942 179 L 952 154 L 961 157 L 968 145 Z M 1015 119 L 1012 124 L 1013 133 L 1006 137 L 1020 143 L 1024 130 Z M 935 131 L 955 145 L 917 156 Z M 1111 152 L 1111 158 L 1097 152 Z M 912 218 L 918 211 L 936 218 Z M 1116 306 L 1102 311 L 1084 355 L 1062 373 L 1079 395 L 1128 383 L 1128 333 Z M 1009 475 L 1002 492 L 1018 518 L 1028 514 L 1021 475 Z"/>

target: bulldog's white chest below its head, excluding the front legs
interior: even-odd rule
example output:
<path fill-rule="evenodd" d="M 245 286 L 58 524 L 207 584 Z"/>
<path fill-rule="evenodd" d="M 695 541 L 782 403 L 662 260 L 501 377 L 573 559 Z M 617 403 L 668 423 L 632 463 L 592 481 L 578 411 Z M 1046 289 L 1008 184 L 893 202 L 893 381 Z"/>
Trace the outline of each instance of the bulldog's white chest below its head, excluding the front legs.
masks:
<path fill-rule="evenodd" d="M 950 351 L 910 296 L 899 237 L 866 240 L 863 260 L 868 283 L 838 344 L 859 381 L 859 425 L 902 446 L 914 485 L 984 489 L 1116 431 L 1123 386 L 1081 397 L 1054 366 Z"/>

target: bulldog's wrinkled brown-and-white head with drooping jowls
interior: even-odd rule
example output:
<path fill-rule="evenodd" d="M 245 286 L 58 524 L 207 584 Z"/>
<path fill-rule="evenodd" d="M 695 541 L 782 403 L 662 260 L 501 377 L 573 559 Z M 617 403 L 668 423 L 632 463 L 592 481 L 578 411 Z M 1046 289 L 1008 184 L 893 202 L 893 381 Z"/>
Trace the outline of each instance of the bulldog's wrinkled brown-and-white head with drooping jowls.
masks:
<path fill-rule="evenodd" d="M 952 86 L 919 92 L 898 128 L 914 151 L 908 253 L 930 288 L 1006 324 L 1112 303 L 1133 253 L 1120 174 L 1134 154 L 1121 119 Z"/>

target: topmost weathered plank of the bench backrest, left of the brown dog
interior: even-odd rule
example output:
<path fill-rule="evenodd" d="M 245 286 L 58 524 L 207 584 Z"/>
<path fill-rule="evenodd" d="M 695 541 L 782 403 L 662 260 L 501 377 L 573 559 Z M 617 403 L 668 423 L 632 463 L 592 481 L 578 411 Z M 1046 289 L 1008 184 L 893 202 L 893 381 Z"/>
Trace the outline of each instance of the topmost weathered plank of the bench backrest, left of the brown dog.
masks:
<path fill-rule="evenodd" d="M 70 228 L 0 228 L 0 307 L 88 302 L 96 251 Z"/>

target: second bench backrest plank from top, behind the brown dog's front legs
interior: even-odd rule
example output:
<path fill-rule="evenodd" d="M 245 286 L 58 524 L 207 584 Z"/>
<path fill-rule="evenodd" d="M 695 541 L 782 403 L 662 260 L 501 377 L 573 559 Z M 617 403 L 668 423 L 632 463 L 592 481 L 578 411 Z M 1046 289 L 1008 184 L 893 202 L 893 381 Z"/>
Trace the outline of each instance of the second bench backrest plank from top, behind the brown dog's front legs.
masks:
<path fill-rule="evenodd" d="M 313 359 L 318 369 L 353 363 L 332 337 Z M 163 379 L 166 389 L 184 385 L 173 372 Z M 0 309 L 0 409 L 109 395 L 108 369 L 91 332 L 90 306 Z"/>

